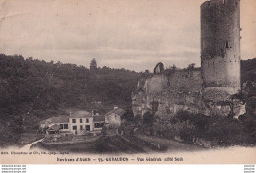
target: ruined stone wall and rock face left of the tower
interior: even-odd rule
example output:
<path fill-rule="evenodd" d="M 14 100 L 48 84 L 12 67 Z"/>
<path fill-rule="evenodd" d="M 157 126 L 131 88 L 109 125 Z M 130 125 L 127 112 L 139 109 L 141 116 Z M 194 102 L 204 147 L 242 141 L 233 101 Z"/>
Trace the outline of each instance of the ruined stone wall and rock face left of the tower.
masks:
<path fill-rule="evenodd" d="M 143 86 L 144 84 L 144 86 Z M 178 70 L 169 75 L 156 74 L 140 80 L 137 92 L 133 93 L 133 111 L 142 116 L 152 111 L 157 103 L 155 115 L 173 116 L 179 110 L 201 112 L 202 78 L 199 70 Z"/>

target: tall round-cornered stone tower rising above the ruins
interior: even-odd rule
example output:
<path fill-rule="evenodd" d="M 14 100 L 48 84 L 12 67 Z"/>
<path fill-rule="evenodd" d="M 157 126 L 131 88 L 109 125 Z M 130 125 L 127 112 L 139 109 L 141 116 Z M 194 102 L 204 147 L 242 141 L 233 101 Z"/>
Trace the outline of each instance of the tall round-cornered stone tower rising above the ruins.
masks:
<path fill-rule="evenodd" d="M 210 0 L 201 5 L 201 67 L 205 99 L 239 93 L 240 0 Z"/>

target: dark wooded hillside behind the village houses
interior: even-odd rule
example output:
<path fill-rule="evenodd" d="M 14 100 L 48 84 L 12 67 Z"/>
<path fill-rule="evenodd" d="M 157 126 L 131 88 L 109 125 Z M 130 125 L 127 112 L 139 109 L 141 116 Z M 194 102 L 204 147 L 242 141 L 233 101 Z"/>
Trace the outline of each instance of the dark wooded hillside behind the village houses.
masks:
<path fill-rule="evenodd" d="M 20 134 L 35 131 L 40 120 L 68 114 L 71 109 L 99 113 L 113 106 L 129 109 L 140 76 L 125 69 L 90 71 L 75 64 L 1 54 L 1 142 L 13 144 Z"/>

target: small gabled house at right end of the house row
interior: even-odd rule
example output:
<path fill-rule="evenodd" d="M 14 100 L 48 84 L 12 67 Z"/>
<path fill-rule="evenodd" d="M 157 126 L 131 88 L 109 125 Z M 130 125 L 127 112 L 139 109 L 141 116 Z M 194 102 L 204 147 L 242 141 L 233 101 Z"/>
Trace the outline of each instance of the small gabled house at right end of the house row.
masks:
<path fill-rule="evenodd" d="M 126 111 L 122 108 L 115 107 L 105 115 L 105 123 L 107 126 L 119 127 L 122 124 L 122 116 Z"/>

